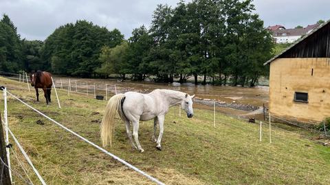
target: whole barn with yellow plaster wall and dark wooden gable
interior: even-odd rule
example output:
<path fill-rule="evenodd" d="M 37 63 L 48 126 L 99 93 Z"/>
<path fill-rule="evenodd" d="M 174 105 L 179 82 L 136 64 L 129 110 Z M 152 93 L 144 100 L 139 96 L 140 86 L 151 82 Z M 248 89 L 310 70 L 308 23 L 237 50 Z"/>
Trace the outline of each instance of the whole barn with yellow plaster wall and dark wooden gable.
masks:
<path fill-rule="evenodd" d="M 318 123 L 330 116 L 330 22 L 265 62 L 270 64 L 270 113 Z"/>

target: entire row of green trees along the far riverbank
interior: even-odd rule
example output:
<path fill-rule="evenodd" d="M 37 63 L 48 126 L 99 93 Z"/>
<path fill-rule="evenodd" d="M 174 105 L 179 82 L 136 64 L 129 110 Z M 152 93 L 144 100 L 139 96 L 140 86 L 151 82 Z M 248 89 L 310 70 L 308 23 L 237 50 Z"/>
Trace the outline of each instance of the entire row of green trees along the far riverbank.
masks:
<path fill-rule="evenodd" d="M 0 24 L 0 70 L 43 69 L 59 75 L 185 82 L 203 76 L 212 82 L 254 86 L 267 75 L 263 62 L 272 55 L 272 38 L 254 14 L 252 0 L 179 1 L 158 5 L 151 27 L 133 29 L 124 40 L 87 21 L 58 27 L 44 41 L 20 40 L 8 16 Z M 5 33 L 5 34 L 3 34 Z M 3 36 L 4 37 L 1 37 Z M 6 40 L 7 39 L 7 40 Z M 8 40 L 9 39 L 9 40 Z M 2 47 L 4 46 L 4 47 Z"/>

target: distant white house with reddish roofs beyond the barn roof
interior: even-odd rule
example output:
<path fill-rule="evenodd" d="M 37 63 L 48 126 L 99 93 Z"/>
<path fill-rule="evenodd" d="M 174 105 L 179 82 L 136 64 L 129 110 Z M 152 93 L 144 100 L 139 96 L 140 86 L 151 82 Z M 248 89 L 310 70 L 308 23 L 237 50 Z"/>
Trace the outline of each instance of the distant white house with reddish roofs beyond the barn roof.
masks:
<path fill-rule="evenodd" d="M 293 43 L 302 36 L 309 34 L 313 29 L 318 27 L 318 24 L 308 25 L 303 28 L 294 28 L 294 29 L 285 29 L 282 25 L 274 25 L 267 27 L 272 32 L 272 36 L 274 38 L 274 42 L 278 44 L 282 43 Z"/>

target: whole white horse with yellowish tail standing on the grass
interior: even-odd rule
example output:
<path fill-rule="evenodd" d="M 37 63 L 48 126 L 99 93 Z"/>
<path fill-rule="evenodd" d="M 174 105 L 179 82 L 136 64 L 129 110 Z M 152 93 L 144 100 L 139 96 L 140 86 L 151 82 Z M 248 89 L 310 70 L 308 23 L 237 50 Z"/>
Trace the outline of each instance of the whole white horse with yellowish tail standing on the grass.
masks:
<path fill-rule="evenodd" d="M 175 90 L 156 89 L 148 94 L 135 92 L 127 92 L 124 94 L 114 95 L 109 99 L 104 117 L 101 123 L 101 140 L 103 147 L 110 143 L 112 147 L 113 132 L 115 129 L 115 112 L 120 114 L 120 118 L 126 123 L 126 133 L 129 137 L 133 149 L 138 149 L 141 153 L 142 149 L 139 139 L 139 121 L 153 121 L 153 142 L 156 142 L 156 148 L 162 150 L 160 142 L 164 132 L 164 119 L 168 108 L 181 103 L 181 108 L 186 110 L 188 118 L 193 116 L 192 98 L 195 95 L 188 95 Z M 133 143 L 130 125 L 133 124 Z M 159 125 L 159 136 L 156 140 L 157 123 Z"/>

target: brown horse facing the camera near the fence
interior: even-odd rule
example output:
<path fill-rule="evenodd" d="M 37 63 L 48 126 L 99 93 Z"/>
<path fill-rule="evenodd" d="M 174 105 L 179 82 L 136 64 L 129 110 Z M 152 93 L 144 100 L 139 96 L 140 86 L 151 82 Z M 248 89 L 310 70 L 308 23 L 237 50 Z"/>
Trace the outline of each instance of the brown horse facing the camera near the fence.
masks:
<path fill-rule="evenodd" d="M 31 76 L 31 86 L 36 89 L 36 101 L 39 101 L 39 90 L 38 88 L 43 89 L 43 93 L 45 94 L 46 103 L 50 102 L 50 93 L 52 90 L 52 74 L 46 71 L 36 71 L 32 72 Z"/>

